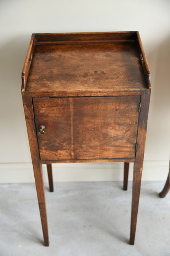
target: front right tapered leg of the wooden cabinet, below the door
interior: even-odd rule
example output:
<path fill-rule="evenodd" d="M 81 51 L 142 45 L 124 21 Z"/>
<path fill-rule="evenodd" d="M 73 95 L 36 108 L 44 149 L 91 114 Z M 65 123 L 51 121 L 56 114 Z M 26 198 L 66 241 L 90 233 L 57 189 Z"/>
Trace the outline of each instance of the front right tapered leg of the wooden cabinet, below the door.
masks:
<path fill-rule="evenodd" d="M 130 245 L 134 245 L 134 238 L 135 238 L 135 232 L 136 232 L 139 196 L 140 196 L 140 190 L 141 190 L 142 165 L 139 165 L 139 163 L 134 163 Z"/>

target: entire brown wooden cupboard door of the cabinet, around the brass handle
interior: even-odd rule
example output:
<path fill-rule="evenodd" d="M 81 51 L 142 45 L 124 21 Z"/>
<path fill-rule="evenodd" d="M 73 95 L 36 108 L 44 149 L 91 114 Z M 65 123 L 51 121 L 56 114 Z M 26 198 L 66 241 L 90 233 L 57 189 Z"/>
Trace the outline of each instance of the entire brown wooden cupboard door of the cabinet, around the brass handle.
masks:
<path fill-rule="evenodd" d="M 140 96 L 34 98 L 41 160 L 134 158 Z"/>

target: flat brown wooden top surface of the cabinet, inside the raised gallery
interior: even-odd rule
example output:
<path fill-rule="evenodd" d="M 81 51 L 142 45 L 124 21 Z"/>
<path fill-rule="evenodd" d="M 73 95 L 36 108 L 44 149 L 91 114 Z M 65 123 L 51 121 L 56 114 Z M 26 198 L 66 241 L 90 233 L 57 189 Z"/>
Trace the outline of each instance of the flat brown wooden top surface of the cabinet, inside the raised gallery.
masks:
<path fill-rule="evenodd" d="M 147 88 L 135 43 L 37 45 L 26 91 Z"/>

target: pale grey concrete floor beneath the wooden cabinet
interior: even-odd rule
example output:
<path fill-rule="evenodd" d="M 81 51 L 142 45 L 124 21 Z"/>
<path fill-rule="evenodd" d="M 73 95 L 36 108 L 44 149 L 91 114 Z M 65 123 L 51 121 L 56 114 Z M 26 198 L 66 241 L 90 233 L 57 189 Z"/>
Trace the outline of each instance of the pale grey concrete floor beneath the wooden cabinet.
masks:
<path fill-rule="evenodd" d="M 169 256 L 170 193 L 142 182 L 135 245 L 129 245 L 132 182 L 45 184 L 49 247 L 43 246 L 35 185 L 0 185 L 0 256 Z"/>

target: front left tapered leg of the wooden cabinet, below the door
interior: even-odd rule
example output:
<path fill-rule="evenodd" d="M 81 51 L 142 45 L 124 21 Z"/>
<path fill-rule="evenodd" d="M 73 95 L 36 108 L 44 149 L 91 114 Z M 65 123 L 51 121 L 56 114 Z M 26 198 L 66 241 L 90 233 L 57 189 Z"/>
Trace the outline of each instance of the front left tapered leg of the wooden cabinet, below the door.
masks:
<path fill-rule="evenodd" d="M 44 245 L 49 246 L 44 182 L 43 182 L 43 176 L 42 176 L 42 167 L 41 167 L 40 163 L 38 163 L 38 161 L 35 164 L 33 163 L 33 169 L 34 169 L 34 177 L 35 177 L 35 182 L 36 182 L 38 204 L 39 204 L 39 209 L 40 209 L 40 217 L 41 217 L 42 232 L 43 232 L 43 237 L 44 237 Z"/>

